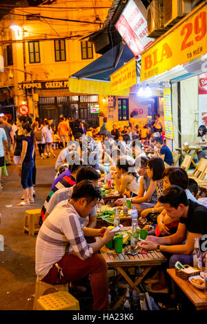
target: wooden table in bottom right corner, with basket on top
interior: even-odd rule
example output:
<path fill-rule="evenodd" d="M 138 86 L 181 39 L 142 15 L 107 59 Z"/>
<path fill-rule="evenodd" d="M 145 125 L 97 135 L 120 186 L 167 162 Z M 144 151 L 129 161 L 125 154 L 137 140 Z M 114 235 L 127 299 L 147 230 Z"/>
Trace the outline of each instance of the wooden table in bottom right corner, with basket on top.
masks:
<path fill-rule="evenodd" d="M 176 276 L 175 269 L 168 269 L 168 274 L 173 281 L 181 288 L 190 301 L 195 305 L 197 310 L 207 310 L 207 296 L 204 294 L 204 290 L 195 288 L 189 281 Z"/>

